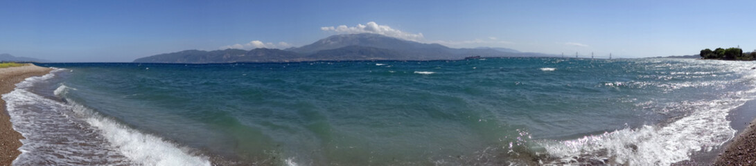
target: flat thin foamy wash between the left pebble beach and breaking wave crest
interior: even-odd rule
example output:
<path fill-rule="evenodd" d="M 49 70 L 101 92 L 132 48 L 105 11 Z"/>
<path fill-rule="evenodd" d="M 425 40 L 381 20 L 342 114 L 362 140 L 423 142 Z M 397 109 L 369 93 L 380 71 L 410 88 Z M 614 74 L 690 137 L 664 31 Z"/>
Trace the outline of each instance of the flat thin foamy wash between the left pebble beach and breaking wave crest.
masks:
<path fill-rule="evenodd" d="M 14 130 L 20 140 L 21 154 L 14 165 L 134 164 L 125 156 L 108 149 L 94 128 L 70 118 L 66 105 L 48 100 L 23 89 L 4 94 Z"/>

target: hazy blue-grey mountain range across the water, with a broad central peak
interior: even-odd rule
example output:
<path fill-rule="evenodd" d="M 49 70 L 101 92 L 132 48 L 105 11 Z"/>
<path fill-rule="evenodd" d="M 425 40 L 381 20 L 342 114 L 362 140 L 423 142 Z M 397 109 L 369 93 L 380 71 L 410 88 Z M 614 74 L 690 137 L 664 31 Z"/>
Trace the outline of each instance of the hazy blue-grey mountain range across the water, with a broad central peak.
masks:
<path fill-rule="evenodd" d="M 135 63 L 301 62 L 319 60 L 462 60 L 465 57 L 556 57 L 509 48 L 448 48 L 373 33 L 331 35 L 310 45 L 284 50 L 187 50 L 141 57 Z"/>

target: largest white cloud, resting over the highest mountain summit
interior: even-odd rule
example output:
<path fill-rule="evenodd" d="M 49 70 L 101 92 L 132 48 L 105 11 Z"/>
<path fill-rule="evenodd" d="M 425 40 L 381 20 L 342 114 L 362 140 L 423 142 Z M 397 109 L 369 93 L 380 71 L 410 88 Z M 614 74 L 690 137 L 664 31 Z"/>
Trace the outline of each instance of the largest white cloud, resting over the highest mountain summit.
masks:
<path fill-rule="evenodd" d="M 365 25 L 357 24 L 357 26 L 324 26 L 321 27 L 321 30 L 323 31 L 333 31 L 340 34 L 355 34 L 355 33 L 375 33 L 380 35 L 386 35 L 389 37 L 394 38 L 401 38 L 404 40 L 414 41 L 414 42 L 421 42 L 423 41 L 423 33 L 410 33 L 410 32 L 402 32 L 399 29 L 393 29 L 390 26 L 386 25 L 378 25 L 378 23 L 370 21 L 366 23 Z"/>

